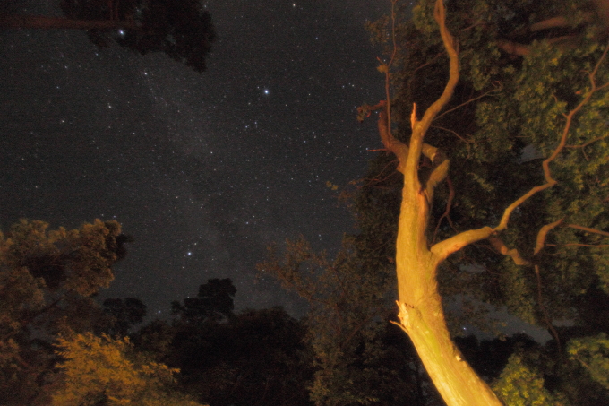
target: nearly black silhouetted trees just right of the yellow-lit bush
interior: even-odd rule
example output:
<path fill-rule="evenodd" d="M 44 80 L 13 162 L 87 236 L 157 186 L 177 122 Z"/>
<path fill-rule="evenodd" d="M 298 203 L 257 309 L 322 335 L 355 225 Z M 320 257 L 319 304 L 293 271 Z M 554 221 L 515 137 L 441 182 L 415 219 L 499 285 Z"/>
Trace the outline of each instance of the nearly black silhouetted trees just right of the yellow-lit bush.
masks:
<path fill-rule="evenodd" d="M 171 324 L 133 334 L 135 349 L 168 367 L 185 393 L 211 406 L 311 405 L 313 358 L 306 328 L 280 307 L 233 313 L 229 279 L 202 284 L 196 298 L 173 302 Z"/>

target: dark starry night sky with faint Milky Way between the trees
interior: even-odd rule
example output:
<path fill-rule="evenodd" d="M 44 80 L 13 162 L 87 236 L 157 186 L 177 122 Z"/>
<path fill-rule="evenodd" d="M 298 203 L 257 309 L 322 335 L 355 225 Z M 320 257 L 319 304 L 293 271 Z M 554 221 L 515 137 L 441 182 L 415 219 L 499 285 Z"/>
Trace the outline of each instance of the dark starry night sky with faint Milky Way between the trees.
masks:
<path fill-rule="evenodd" d="M 210 278 L 234 281 L 237 309 L 298 315 L 254 265 L 274 241 L 332 249 L 353 231 L 326 182 L 362 177 L 379 147 L 356 107 L 383 99 L 364 23 L 390 2 L 205 4 L 218 38 L 202 74 L 78 30 L 0 30 L 0 226 L 119 220 L 135 241 L 99 298 L 141 298 L 149 315 Z"/>

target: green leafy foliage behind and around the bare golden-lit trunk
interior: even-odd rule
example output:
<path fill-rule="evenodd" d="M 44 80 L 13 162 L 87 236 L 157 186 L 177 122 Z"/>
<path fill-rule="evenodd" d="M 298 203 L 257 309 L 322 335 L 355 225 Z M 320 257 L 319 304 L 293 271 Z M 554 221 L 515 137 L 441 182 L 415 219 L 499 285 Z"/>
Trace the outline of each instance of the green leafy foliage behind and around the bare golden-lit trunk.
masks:
<path fill-rule="evenodd" d="M 386 58 L 393 52 L 393 34 L 397 39 L 389 72 L 392 131 L 407 142 L 413 103 L 425 111 L 440 96 L 448 58 L 433 19 L 435 2 L 419 1 L 411 20 L 407 2 L 400 3 L 395 32 L 390 17 L 368 23 L 367 29 Z M 603 321 L 609 308 L 606 22 L 594 4 L 571 0 L 465 0 L 446 7 L 449 30 L 459 44 L 461 77 L 449 105 L 425 134 L 425 143 L 450 159 L 448 181 L 435 191 L 430 245 L 467 229 L 495 227 L 506 207 L 545 184 L 542 161 L 565 138 L 548 166 L 556 185 L 520 204 L 508 229 L 497 236 L 529 264 L 517 265 L 480 241 L 442 264 L 440 292 L 446 303 L 467 296 L 470 324 L 485 327 L 484 310 L 491 305 L 556 333 L 554 341 L 536 349 L 536 358 L 523 349 L 522 357 L 510 359 L 495 385 L 506 402 L 602 404 L 607 393 L 600 384 L 578 364 L 554 360 L 561 359 L 572 338 L 609 333 Z M 557 16 L 564 20 L 548 20 Z M 371 107 L 358 112 L 364 119 Z M 421 160 L 419 168 L 429 164 Z M 275 248 L 259 266 L 311 304 L 307 324 L 319 368 L 312 396 L 319 404 L 382 398 L 375 392 L 382 385 L 374 381 L 381 369 L 364 366 L 379 367 L 373 359 L 382 358 L 376 346 L 383 328 L 376 323 L 394 311 L 392 258 L 402 186 L 395 169 L 385 152 L 371 161 L 352 205 L 359 233 L 345 238 L 336 259 L 314 254 L 299 240 L 287 243 L 284 258 Z M 562 223 L 534 253 L 540 229 L 559 219 Z M 573 327 L 558 327 L 557 321 Z M 579 356 L 592 362 L 596 353 Z M 375 382 L 372 388 L 363 376 Z"/>

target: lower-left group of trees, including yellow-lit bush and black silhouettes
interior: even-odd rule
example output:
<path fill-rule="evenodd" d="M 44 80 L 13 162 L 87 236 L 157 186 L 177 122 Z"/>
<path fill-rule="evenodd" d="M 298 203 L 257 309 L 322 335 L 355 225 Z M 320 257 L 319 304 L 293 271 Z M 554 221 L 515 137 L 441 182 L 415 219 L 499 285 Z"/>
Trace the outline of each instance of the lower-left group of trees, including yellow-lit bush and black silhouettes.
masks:
<path fill-rule="evenodd" d="M 279 307 L 235 313 L 229 279 L 138 330 L 140 299 L 100 306 L 93 297 L 131 240 L 100 220 L 72 230 L 21 220 L 0 235 L 3 405 L 311 404 L 304 325 Z"/>

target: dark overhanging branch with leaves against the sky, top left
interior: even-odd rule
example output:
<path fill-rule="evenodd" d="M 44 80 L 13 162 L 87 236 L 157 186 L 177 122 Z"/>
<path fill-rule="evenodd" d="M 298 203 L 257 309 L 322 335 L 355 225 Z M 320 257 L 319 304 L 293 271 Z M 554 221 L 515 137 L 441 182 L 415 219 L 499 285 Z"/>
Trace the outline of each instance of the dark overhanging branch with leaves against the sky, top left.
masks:
<path fill-rule="evenodd" d="M 216 37 L 199 0 L 63 0 L 61 8 L 65 18 L 0 15 L 0 28 L 86 30 L 100 48 L 163 52 L 199 73 Z"/>

